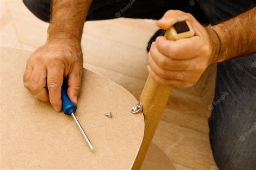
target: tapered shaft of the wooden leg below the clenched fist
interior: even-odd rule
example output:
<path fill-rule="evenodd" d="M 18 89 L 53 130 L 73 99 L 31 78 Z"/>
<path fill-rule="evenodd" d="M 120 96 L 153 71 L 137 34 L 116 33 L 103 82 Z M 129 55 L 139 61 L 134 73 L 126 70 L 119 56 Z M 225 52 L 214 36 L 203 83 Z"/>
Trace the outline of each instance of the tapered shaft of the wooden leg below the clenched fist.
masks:
<path fill-rule="evenodd" d="M 140 169 L 150 146 L 151 140 L 156 132 L 165 105 L 170 97 L 172 88 L 154 81 L 150 76 L 147 78 L 140 101 L 143 103 L 145 119 L 145 131 L 142 146 L 139 149 L 136 161 L 132 169 Z"/>

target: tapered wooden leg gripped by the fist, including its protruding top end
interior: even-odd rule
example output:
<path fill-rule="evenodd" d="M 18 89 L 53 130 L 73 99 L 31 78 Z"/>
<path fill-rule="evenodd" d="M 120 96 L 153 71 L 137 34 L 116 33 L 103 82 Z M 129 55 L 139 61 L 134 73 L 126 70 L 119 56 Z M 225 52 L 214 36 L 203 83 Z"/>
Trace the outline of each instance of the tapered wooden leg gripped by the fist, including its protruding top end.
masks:
<path fill-rule="evenodd" d="M 190 22 L 184 21 L 176 23 L 166 31 L 165 37 L 169 40 L 178 40 L 194 36 L 194 30 Z M 137 158 L 132 169 L 140 169 L 143 160 L 150 146 L 151 140 L 156 132 L 161 115 L 164 112 L 166 103 L 172 91 L 171 86 L 165 86 L 147 77 L 146 84 L 140 96 L 145 119 L 145 131 L 142 146 L 139 149 Z"/>

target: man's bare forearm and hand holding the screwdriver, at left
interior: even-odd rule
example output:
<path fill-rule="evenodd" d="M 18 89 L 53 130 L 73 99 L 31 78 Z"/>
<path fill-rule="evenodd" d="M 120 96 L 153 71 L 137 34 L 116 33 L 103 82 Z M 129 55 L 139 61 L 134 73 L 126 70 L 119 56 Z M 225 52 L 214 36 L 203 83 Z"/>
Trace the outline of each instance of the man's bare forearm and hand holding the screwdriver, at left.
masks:
<path fill-rule="evenodd" d="M 83 73 L 80 41 L 91 0 L 53 0 L 48 40 L 27 60 L 24 86 L 38 99 L 62 110 L 61 86 L 68 78 L 68 96 L 77 104 Z M 48 92 L 44 89 L 48 85 Z"/>

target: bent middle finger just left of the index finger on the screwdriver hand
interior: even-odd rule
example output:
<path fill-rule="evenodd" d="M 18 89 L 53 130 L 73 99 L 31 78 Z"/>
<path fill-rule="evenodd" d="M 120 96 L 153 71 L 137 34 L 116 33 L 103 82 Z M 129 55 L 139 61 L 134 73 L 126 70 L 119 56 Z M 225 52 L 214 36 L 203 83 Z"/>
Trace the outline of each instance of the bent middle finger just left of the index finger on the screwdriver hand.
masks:
<path fill-rule="evenodd" d="M 42 101 L 48 101 L 48 92 L 44 88 L 46 86 L 47 71 L 43 65 L 35 66 L 29 82 L 30 91 Z"/>

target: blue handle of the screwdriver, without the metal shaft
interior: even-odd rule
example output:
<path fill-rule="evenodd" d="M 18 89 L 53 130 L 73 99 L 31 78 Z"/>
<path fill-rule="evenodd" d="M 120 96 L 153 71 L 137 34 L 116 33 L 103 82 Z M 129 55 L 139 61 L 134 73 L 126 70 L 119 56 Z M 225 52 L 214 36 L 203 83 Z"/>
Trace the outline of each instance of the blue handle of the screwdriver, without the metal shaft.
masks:
<path fill-rule="evenodd" d="M 76 112 L 77 106 L 73 104 L 72 101 L 69 99 L 69 96 L 66 93 L 66 87 L 66 81 L 64 80 L 62 85 L 62 108 L 65 114 L 71 115 L 71 113 Z"/>

